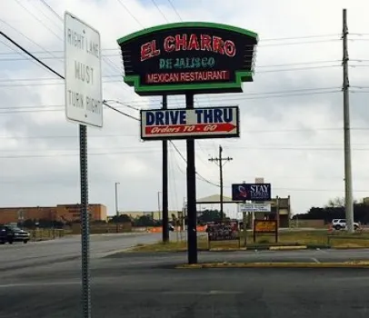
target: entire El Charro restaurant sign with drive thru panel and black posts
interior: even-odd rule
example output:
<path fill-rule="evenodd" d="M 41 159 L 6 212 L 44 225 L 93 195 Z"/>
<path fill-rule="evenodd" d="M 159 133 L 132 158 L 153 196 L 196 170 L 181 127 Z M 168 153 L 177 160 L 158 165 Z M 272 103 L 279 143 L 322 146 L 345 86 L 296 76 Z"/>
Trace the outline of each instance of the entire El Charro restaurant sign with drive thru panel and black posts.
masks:
<path fill-rule="evenodd" d="M 117 40 L 125 66 L 125 83 L 134 86 L 139 95 L 185 94 L 187 110 L 194 109 L 194 94 L 243 92 L 242 83 L 253 81 L 257 41 L 254 32 L 239 27 L 198 22 L 158 25 Z M 194 139 L 238 136 L 238 119 L 231 119 L 238 118 L 238 110 L 236 114 L 230 109 L 204 112 L 186 118 L 185 112 L 156 111 L 155 127 L 146 127 L 150 134 L 158 134 L 151 140 L 186 139 L 188 263 L 197 263 Z M 141 134 L 145 126 L 142 114 Z M 229 114 L 228 118 L 224 114 Z M 196 134 L 177 134 L 182 131 Z M 164 170 L 166 155 L 163 143 Z M 167 174 L 163 172 L 163 201 L 167 193 L 165 178 Z M 165 241 L 165 212 L 163 215 Z"/>

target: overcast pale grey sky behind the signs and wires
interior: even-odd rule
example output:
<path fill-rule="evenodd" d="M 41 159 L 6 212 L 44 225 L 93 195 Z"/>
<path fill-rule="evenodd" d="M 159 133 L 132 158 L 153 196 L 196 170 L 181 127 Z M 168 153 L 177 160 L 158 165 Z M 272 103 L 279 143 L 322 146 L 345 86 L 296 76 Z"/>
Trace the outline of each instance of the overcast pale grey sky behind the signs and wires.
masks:
<path fill-rule="evenodd" d="M 3 0 L 1 30 L 64 75 L 65 10 L 100 31 L 104 98 L 136 108 L 159 107 L 123 83 L 116 39 L 179 21 L 236 25 L 259 35 L 254 83 L 244 94 L 206 94 L 197 106 L 239 104 L 241 138 L 196 141 L 197 197 L 218 194 L 217 155 L 224 194 L 231 184 L 264 177 L 272 194 L 291 195 L 294 213 L 344 196 L 342 10 L 348 10 L 354 198 L 369 196 L 369 3 L 309 0 Z M 64 84 L 0 37 L 0 206 L 75 204 L 80 200 L 78 126 L 65 120 Z M 127 114 L 134 109 L 115 104 Z M 169 99 L 184 106 L 184 97 Z M 141 142 L 135 120 L 104 109 L 104 128 L 88 128 L 89 201 L 119 209 L 157 209 L 161 142 Z M 185 142 L 175 145 L 185 155 Z M 170 209 L 185 197 L 185 163 L 170 146 Z M 214 185 L 215 184 L 215 185 Z M 233 207 L 226 207 L 232 211 Z"/>

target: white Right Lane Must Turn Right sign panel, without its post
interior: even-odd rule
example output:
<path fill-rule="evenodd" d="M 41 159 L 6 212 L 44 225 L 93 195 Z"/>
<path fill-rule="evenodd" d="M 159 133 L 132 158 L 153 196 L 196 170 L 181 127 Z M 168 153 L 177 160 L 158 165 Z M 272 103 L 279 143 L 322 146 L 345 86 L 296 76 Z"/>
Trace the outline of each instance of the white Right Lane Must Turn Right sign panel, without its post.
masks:
<path fill-rule="evenodd" d="M 65 114 L 78 124 L 103 126 L 100 34 L 65 12 Z"/>

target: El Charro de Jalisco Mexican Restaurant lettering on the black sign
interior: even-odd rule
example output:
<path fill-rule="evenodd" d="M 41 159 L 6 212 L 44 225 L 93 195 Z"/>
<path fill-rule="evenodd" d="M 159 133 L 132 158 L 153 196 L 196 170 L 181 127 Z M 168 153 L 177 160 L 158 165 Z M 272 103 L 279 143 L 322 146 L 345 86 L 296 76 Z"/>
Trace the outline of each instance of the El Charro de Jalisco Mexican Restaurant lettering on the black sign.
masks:
<path fill-rule="evenodd" d="M 211 55 L 204 55 L 206 52 Z M 227 81 L 230 79 L 230 71 L 216 67 L 214 55 L 234 58 L 236 52 L 236 45 L 230 39 L 215 35 L 181 33 L 167 35 L 162 40 L 145 42 L 141 45 L 140 60 L 145 62 L 156 57 L 156 67 L 161 71 L 146 74 L 146 84 Z M 173 53 L 179 53 L 180 57 L 163 56 Z M 184 53 L 188 56 L 183 57 Z M 195 56 L 195 53 L 201 54 Z"/>

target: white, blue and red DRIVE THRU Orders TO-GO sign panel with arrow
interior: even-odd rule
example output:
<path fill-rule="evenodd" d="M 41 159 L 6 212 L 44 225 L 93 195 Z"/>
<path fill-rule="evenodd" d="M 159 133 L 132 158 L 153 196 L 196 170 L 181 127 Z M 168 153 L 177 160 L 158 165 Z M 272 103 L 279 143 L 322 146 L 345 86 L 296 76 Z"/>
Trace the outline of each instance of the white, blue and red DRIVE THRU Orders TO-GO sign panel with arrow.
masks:
<path fill-rule="evenodd" d="M 141 139 L 239 137 L 238 106 L 141 110 Z"/>

